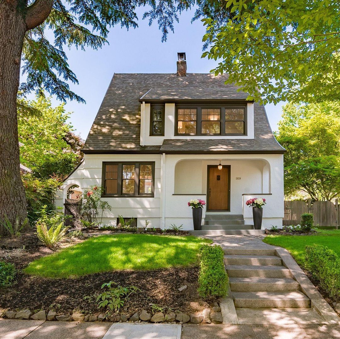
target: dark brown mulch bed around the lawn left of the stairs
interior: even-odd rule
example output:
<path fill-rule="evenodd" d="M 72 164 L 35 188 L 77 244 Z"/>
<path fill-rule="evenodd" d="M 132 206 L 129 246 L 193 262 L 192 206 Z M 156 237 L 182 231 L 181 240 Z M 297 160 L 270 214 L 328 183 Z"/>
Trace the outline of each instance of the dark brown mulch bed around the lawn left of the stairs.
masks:
<path fill-rule="evenodd" d="M 183 313 L 200 312 L 208 307 L 197 293 L 198 267 L 113 271 L 75 279 L 32 277 L 21 271 L 31 261 L 51 253 L 52 250 L 39 243 L 33 231 L 19 238 L 0 239 L 0 260 L 12 262 L 18 269 L 16 282 L 10 288 L 0 288 L 0 308 L 53 309 L 62 314 L 73 311 L 100 313 L 102 310 L 98 309 L 96 297 L 103 291 L 102 284 L 110 281 L 141 290 L 125 302 L 121 310 L 124 313 L 134 314 L 141 309 L 152 312 L 153 305 L 163 312 Z M 187 285 L 187 289 L 180 292 L 178 288 L 183 285 Z"/>

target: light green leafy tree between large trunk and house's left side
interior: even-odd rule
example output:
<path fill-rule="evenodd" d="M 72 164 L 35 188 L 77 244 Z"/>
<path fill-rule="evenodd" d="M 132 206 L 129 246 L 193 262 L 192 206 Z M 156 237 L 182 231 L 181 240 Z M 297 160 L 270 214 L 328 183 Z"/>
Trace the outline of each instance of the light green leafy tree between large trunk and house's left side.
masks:
<path fill-rule="evenodd" d="M 64 104 L 52 107 L 49 98 L 43 95 L 36 100 L 19 100 L 18 135 L 20 163 L 29 167 L 37 178 L 51 175 L 63 178 L 72 171 L 82 158 L 83 140 L 73 133 L 67 123 L 70 113 Z M 33 114 L 21 107 L 30 107 Z"/>

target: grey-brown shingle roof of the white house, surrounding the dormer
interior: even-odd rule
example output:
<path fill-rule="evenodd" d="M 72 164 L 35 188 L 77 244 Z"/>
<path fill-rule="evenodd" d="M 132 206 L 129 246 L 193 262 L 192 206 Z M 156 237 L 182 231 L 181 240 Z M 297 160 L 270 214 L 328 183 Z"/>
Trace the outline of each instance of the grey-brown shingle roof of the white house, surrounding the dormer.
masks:
<path fill-rule="evenodd" d="M 214 92 L 221 99 L 243 99 L 247 94 L 237 92 L 232 85 L 224 85 L 227 75 L 215 77 L 212 74 L 187 73 L 180 77 L 176 74 L 115 74 L 107 89 L 97 116 L 87 136 L 84 152 L 100 153 L 158 153 L 177 151 L 226 152 L 266 151 L 284 152 L 276 142 L 270 129 L 263 106 L 254 103 L 255 139 L 209 139 L 209 140 L 164 140 L 162 146 L 140 146 L 140 102 L 139 99 L 149 91 L 149 95 L 175 95 L 195 99 L 215 99 Z M 166 88 L 164 88 L 166 86 Z M 155 89 L 155 91 L 152 91 Z M 199 93 L 206 89 L 210 96 Z M 225 89 L 225 92 L 222 91 Z M 150 91 L 151 90 L 151 91 Z M 161 91 L 162 90 L 162 91 Z M 158 92 L 160 91 L 160 92 Z M 222 93 L 223 92 L 223 93 Z M 187 93 L 187 94 L 186 94 Z M 194 96 L 195 95 L 195 96 Z M 236 95 L 240 97 L 236 98 Z M 242 96 L 242 97 L 241 97 Z M 146 99 L 146 96 L 144 99 Z M 165 99 L 166 100 L 166 99 Z"/>

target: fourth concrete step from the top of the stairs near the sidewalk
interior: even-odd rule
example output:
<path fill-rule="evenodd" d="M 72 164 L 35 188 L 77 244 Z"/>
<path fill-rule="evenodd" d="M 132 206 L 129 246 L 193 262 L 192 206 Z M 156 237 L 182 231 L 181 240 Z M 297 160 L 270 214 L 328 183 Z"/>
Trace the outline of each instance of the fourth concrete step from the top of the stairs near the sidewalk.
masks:
<path fill-rule="evenodd" d="M 297 291 L 299 283 L 292 278 L 229 278 L 232 291 Z"/>

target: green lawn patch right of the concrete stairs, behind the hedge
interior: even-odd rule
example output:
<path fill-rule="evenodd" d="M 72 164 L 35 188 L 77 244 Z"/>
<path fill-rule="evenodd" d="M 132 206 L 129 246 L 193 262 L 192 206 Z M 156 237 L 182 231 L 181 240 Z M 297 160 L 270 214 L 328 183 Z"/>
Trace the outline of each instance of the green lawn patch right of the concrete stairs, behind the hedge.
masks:
<path fill-rule="evenodd" d="M 315 236 L 268 236 L 263 241 L 270 245 L 286 248 L 295 261 L 304 264 L 306 245 L 324 245 L 333 249 L 340 256 L 340 230 L 318 229 Z"/>

